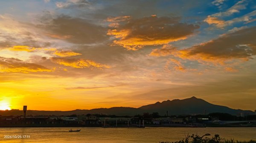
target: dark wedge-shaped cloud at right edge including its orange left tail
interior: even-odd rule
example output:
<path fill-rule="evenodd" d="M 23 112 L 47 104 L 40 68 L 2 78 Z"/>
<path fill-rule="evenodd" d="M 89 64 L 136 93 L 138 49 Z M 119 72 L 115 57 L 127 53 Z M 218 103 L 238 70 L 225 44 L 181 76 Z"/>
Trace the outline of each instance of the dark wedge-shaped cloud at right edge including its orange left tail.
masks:
<path fill-rule="evenodd" d="M 154 49 L 151 56 L 173 55 L 182 59 L 218 62 L 241 59 L 249 60 L 256 55 L 256 27 L 241 29 L 239 31 L 223 34 L 216 39 L 194 45 L 191 48 L 177 50 L 172 46 L 163 46 Z"/>

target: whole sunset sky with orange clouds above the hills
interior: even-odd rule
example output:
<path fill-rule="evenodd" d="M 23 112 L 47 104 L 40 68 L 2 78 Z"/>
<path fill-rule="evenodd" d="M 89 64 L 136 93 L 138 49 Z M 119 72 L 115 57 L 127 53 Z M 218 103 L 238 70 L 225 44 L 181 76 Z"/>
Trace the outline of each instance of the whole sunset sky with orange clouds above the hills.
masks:
<path fill-rule="evenodd" d="M 255 0 L 0 2 L 0 109 L 255 110 Z"/>

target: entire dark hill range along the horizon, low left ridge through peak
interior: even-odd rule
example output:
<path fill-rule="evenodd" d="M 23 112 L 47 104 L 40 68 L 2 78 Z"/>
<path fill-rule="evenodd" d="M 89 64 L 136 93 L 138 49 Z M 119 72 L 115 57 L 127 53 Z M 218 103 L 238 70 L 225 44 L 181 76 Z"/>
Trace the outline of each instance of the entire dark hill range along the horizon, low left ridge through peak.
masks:
<path fill-rule="evenodd" d="M 149 104 L 142 106 L 140 108 L 131 108 L 131 107 L 112 107 L 112 108 L 99 108 L 99 109 L 76 109 L 72 111 L 38 111 L 38 110 L 28 110 L 26 115 L 81 115 L 81 114 L 107 114 L 107 115 L 137 115 L 143 114 L 143 112 L 158 112 L 160 115 L 195 115 L 195 114 L 204 114 L 204 112 L 222 112 L 229 113 L 231 115 L 253 115 L 254 112 L 250 110 L 241 110 L 241 109 L 231 109 L 229 107 L 214 105 L 203 99 L 196 97 L 186 98 L 183 100 L 167 100 L 162 103 L 157 102 L 155 104 Z M 23 115 L 22 110 L 9 110 L 9 111 L 0 111 L 0 115 Z"/>

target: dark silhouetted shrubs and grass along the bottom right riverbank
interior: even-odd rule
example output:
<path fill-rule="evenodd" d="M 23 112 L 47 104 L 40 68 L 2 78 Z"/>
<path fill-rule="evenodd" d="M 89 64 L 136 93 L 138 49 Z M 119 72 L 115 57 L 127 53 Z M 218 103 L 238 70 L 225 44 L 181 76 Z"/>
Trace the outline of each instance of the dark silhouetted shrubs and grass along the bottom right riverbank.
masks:
<path fill-rule="evenodd" d="M 256 140 L 250 140 L 250 141 L 238 141 L 238 140 L 226 140 L 221 138 L 219 135 L 214 135 L 214 137 L 210 138 L 207 137 L 209 134 L 205 134 L 202 137 L 199 135 L 186 135 L 185 138 L 183 138 L 180 141 L 175 142 L 169 142 L 169 141 L 162 141 L 159 143 L 256 143 Z M 206 136 L 206 137 L 205 137 Z"/>

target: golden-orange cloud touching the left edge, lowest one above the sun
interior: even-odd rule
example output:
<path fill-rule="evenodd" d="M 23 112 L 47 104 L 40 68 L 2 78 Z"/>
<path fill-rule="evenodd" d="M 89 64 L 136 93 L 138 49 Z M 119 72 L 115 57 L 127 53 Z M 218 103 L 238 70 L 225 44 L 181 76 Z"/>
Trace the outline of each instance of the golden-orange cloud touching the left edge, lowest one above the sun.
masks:
<path fill-rule="evenodd" d="M 35 73 L 35 72 L 51 72 L 53 70 L 48 69 L 47 67 L 26 63 L 20 59 L 15 58 L 4 58 L 0 57 L 0 72 L 9 72 L 9 73 Z"/>

